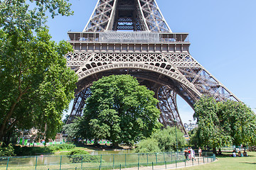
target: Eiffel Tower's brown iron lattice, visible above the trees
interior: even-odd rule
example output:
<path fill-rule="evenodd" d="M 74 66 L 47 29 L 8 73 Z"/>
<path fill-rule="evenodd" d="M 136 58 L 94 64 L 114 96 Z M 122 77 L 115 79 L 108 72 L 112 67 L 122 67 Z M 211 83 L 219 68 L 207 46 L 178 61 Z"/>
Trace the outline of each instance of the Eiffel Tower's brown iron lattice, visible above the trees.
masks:
<path fill-rule="evenodd" d="M 79 81 L 70 113 L 82 115 L 90 86 L 104 76 L 130 74 L 155 92 L 159 121 L 186 133 L 177 94 L 193 108 L 202 95 L 218 101 L 239 99 L 189 53 L 188 33 L 173 33 L 156 0 L 98 0 L 82 32 L 68 32 L 74 52 L 68 67 Z"/>

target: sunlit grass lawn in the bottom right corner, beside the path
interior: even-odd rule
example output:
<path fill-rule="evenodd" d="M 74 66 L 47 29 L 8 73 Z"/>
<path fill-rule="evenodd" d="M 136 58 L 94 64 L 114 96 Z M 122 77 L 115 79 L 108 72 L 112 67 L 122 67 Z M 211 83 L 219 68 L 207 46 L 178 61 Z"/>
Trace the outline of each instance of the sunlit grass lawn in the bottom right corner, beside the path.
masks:
<path fill-rule="evenodd" d="M 247 152 L 249 157 L 229 157 L 231 153 L 223 153 L 221 156 L 217 156 L 218 160 L 209 164 L 203 164 L 199 166 L 187 167 L 183 169 L 189 170 L 201 170 L 201 169 L 256 169 L 256 152 Z"/>

